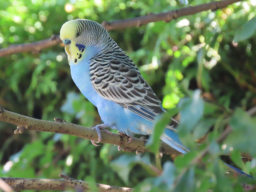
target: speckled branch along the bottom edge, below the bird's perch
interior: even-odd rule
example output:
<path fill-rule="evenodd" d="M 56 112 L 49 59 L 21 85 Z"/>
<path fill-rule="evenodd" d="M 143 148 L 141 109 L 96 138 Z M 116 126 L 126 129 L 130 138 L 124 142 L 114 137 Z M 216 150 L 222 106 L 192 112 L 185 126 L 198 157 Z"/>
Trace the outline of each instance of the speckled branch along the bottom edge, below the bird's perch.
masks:
<path fill-rule="evenodd" d="M 81 189 L 87 191 L 89 183 L 82 180 L 75 180 L 66 175 L 59 174 L 62 179 L 29 179 L 29 178 L 11 178 L 1 177 L 13 190 L 65 190 L 67 187 L 74 188 L 76 191 Z M 99 192 L 132 192 L 133 188 L 114 187 L 95 183 Z M 80 189 L 80 190 L 79 190 Z"/>

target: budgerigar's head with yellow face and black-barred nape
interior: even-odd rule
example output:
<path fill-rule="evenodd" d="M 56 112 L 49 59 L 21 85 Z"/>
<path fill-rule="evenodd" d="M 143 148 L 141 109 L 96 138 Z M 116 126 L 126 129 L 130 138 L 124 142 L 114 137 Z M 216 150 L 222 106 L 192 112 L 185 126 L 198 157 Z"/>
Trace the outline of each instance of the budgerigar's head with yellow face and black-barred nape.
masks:
<path fill-rule="evenodd" d="M 108 31 L 99 23 L 92 20 L 76 19 L 64 23 L 60 29 L 60 39 L 65 45 L 68 61 L 76 62 L 80 53 L 87 46 L 94 46 L 102 49 L 107 45 Z"/>

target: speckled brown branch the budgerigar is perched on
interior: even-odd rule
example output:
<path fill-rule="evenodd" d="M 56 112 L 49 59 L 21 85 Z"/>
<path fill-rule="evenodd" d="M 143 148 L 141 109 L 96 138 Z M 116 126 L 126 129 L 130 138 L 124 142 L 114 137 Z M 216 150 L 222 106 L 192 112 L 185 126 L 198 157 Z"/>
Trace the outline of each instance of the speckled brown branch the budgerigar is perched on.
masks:
<path fill-rule="evenodd" d="M 98 140 L 98 134 L 95 129 L 68 123 L 66 121 L 59 121 L 58 118 L 55 119 L 55 122 L 35 119 L 0 108 L 0 121 L 18 125 L 17 129 L 14 131 L 15 134 L 21 134 L 27 129 L 42 132 L 74 135 L 77 137 L 95 141 Z M 133 140 L 129 142 L 129 138 L 125 136 L 120 136 L 114 133 L 110 135 L 106 132 L 101 132 L 101 136 L 101 143 L 124 146 L 124 151 L 148 151 L 148 149 L 145 148 L 145 143 L 147 142 L 147 140 L 145 139 L 133 138 Z M 180 154 L 179 151 L 171 148 L 164 142 L 161 143 L 161 152 L 163 154 Z"/>

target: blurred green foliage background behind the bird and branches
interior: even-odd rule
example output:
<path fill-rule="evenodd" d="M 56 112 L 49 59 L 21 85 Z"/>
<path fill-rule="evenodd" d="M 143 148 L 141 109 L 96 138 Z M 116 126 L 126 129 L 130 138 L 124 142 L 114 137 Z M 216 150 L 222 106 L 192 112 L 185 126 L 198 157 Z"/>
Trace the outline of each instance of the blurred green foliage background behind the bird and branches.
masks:
<path fill-rule="evenodd" d="M 49 38 L 59 34 L 64 22 L 76 18 L 101 23 L 209 2 L 0 1 L 0 48 Z M 191 149 L 189 154 L 174 158 L 172 164 L 168 155 L 161 160 L 154 153 L 136 156 L 109 144 L 94 147 L 89 140 L 69 135 L 33 131 L 14 135 L 14 125 L 0 122 L 0 176 L 58 178 L 63 173 L 79 180 L 137 186 L 138 191 L 243 191 L 240 185 L 231 185 L 243 178 L 226 177 L 219 155 L 231 153 L 233 165 L 256 176 L 256 159 L 243 164 L 240 157 L 240 152 L 256 156 L 256 120 L 245 112 L 256 105 L 255 5 L 255 0 L 242 1 L 169 23 L 110 31 L 169 115 L 180 121 L 179 134 Z M 73 83 L 61 44 L 0 58 L 0 106 L 38 119 L 61 117 L 87 127 L 101 123 L 96 108 Z M 233 132 L 218 145 L 216 140 L 228 124 Z M 195 141 L 209 130 L 205 144 L 196 148 Z M 152 150 L 158 144 L 155 140 Z M 209 155 L 188 167 L 207 145 Z M 163 174 L 152 167 L 164 170 Z M 188 171 L 173 185 L 184 169 Z"/>

